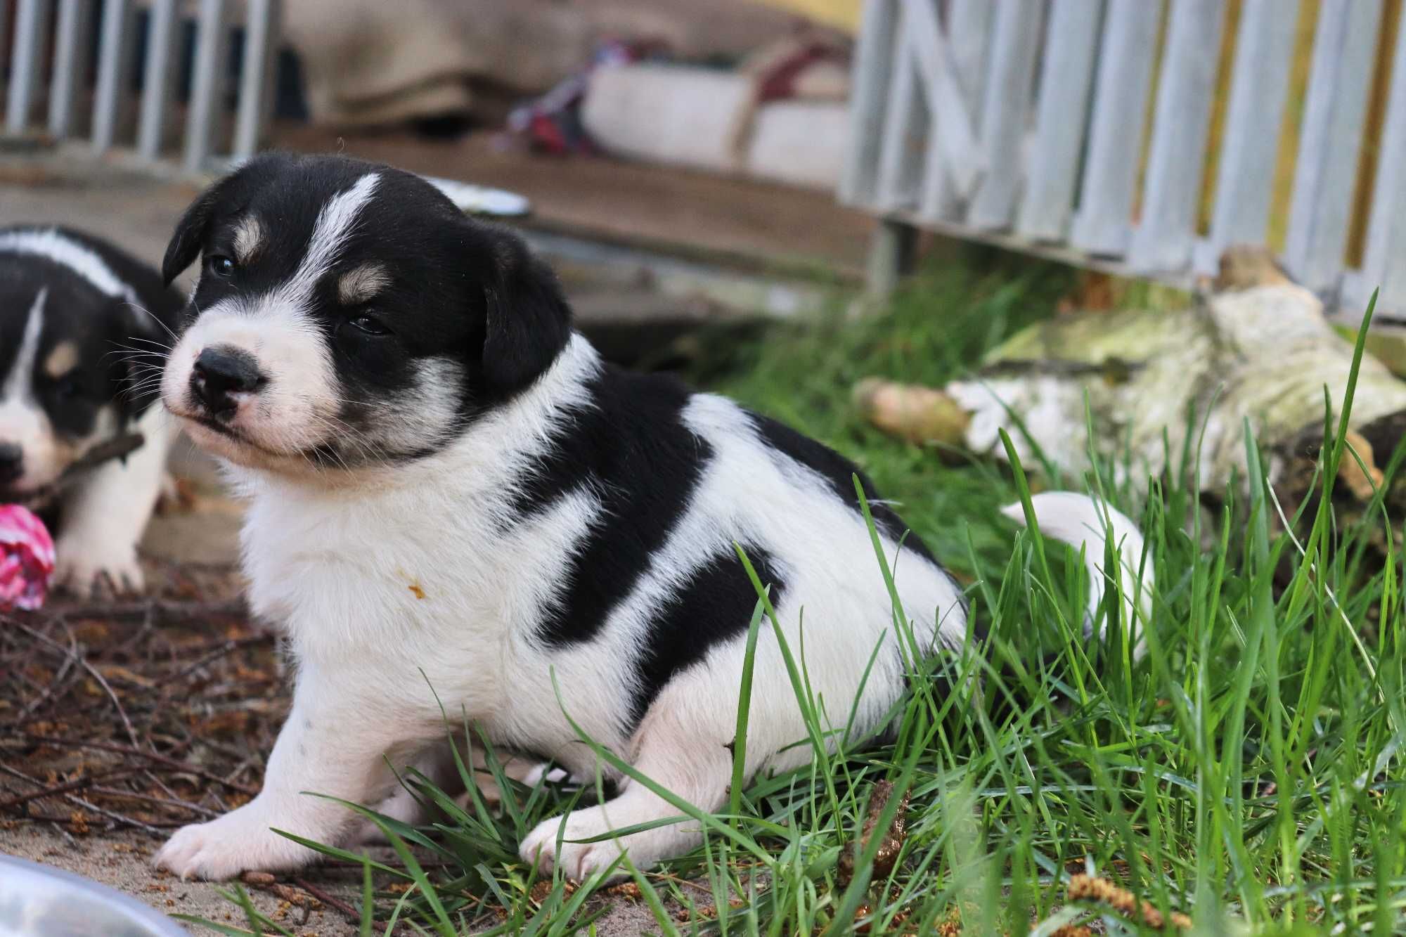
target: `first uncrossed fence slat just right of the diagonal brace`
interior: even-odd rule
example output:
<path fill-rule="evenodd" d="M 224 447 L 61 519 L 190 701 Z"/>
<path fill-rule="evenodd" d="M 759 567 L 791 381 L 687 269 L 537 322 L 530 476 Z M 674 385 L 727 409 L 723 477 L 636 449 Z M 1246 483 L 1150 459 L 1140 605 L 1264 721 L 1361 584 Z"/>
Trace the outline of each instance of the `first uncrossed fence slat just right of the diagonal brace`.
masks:
<path fill-rule="evenodd" d="M 967 224 L 974 228 L 1008 228 L 1015 218 L 1042 6 L 1043 0 L 997 4 L 991 69 L 980 118 L 986 177 L 967 210 Z"/>

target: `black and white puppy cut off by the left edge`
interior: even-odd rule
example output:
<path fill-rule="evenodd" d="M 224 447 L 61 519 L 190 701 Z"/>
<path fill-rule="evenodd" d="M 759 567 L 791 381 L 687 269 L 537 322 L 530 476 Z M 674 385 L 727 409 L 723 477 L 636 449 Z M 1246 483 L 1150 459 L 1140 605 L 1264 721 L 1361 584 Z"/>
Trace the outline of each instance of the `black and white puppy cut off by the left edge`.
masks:
<path fill-rule="evenodd" d="M 142 588 L 136 542 L 172 435 L 153 404 L 184 304 L 97 238 L 0 228 L 0 501 L 56 509 L 56 581 L 77 592 Z M 70 466 L 132 431 L 141 449 L 70 483 Z"/>

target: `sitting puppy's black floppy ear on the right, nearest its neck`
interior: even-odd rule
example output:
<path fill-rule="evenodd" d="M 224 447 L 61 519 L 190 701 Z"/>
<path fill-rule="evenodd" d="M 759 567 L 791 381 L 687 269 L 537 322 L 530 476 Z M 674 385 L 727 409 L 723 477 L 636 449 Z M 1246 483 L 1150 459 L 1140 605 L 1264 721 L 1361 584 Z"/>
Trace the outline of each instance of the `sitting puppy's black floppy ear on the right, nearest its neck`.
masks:
<path fill-rule="evenodd" d="M 571 307 L 557 276 L 516 235 L 494 234 L 484 287 L 484 383 L 516 393 L 546 371 L 571 340 Z"/>

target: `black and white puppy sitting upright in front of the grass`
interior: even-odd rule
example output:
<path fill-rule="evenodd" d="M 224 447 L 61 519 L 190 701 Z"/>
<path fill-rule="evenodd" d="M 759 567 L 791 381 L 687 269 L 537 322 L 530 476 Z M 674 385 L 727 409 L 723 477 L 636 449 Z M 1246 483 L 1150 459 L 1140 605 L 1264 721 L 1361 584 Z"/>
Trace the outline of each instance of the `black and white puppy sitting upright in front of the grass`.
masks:
<path fill-rule="evenodd" d="M 443 746 L 434 694 L 495 744 L 595 777 L 565 709 L 645 775 L 720 808 L 756 602 L 734 542 L 838 727 L 876 727 L 903 692 L 855 466 L 723 397 L 602 363 L 516 236 L 408 173 L 273 155 L 190 207 L 166 279 L 197 256 L 162 397 L 247 499 L 250 604 L 285 629 L 298 675 L 263 791 L 177 831 L 159 864 L 205 878 L 307 864 L 314 853 L 270 827 L 353 833 L 350 812 L 309 791 L 413 819 L 385 758 Z M 1087 498 L 1047 505 L 1063 536 L 1101 543 Z M 962 591 L 889 506 L 873 514 L 918 639 L 960 644 Z M 1116 525 L 1136 556 L 1140 537 Z M 803 764 L 766 630 L 754 681 L 748 774 Z M 613 799 L 565 819 L 560 853 L 553 819 L 523 858 L 585 878 L 621 850 L 644 867 L 699 841 L 696 823 L 578 841 L 676 816 L 616 779 Z"/>

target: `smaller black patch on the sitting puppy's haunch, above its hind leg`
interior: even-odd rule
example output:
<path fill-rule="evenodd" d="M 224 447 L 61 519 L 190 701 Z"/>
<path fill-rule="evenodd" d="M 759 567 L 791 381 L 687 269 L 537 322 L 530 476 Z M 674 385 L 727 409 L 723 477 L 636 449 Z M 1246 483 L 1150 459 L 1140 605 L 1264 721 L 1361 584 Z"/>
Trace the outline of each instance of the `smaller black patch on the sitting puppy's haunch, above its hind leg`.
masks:
<path fill-rule="evenodd" d="M 775 560 L 758 546 L 742 549 L 762 585 L 772 587 L 775 608 L 786 588 Z M 676 674 L 703 660 L 714 644 L 745 633 L 755 608 L 756 589 L 734 553 L 720 554 L 693 570 L 688 582 L 668 597 L 650 623 L 628 729 L 640 725 L 654 698 Z M 728 743 L 728 748 L 731 746 Z"/>

